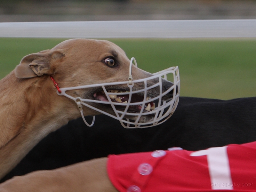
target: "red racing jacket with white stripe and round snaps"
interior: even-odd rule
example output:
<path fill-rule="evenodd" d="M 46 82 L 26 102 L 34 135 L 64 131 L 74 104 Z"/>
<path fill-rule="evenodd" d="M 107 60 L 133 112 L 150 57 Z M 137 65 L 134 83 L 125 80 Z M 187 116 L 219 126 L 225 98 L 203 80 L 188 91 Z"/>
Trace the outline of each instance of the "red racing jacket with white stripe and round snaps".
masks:
<path fill-rule="evenodd" d="M 175 149 L 110 155 L 109 179 L 120 192 L 256 192 L 256 142 Z"/>

